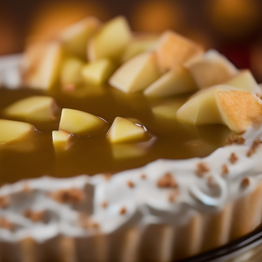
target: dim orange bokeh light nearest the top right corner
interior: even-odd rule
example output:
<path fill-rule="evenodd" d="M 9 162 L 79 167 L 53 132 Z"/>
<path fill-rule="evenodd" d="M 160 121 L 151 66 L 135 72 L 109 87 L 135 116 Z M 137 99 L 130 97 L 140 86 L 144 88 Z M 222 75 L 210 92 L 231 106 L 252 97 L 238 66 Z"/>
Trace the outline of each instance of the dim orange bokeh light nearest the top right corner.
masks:
<path fill-rule="evenodd" d="M 227 37 L 242 37 L 254 29 L 259 19 L 258 2 L 254 0 L 208 1 L 213 26 Z"/>

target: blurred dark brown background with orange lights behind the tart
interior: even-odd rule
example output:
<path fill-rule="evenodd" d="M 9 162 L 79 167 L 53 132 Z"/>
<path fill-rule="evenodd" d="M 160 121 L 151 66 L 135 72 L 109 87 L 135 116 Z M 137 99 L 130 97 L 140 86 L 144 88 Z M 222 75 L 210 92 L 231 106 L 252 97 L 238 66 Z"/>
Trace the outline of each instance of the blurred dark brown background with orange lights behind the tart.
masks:
<path fill-rule="evenodd" d="M 119 14 L 134 31 L 172 29 L 215 48 L 262 82 L 260 0 L 2 0 L 0 55 L 23 51 L 29 35 L 52 36 L 88 15 L 106 21 Z"/>

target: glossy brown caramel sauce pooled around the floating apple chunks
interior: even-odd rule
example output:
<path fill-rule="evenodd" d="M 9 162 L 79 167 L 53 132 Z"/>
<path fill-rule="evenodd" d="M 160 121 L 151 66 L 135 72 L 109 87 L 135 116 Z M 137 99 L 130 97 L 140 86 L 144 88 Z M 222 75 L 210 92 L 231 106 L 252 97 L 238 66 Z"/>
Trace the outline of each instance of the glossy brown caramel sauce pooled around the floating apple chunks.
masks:
<path fill-rule="evenodd" d="M 0 89 L 0 118 L 7 105 L 32 95 L 47 95 L 31 89 Z M 142 93 L 125 94 L 111 86 L 85 86 L 76 90 L 55 91 L 52 94 L 61 108 L 73 108 L 99 116 L 112 123 L 118 116 L 137 118 L 157 137 L 146 154 L 140 157 L 115 159 L 110 142 L 103 137 L 72 138 L 71 147 L 55 154 L 52 131 L 59 121 L 30 122 L 39 132 L 19 146 L 0 147 L 0 184 L 43 175 L 72 177 L 79 174 L 117 172 L 141 167 L 151 161 L 205 157 L 220 147 L 230 134 L 223 125 L 192 126 L 165 119 L 152 113 L 152 106 L 165 100 L 183 100 L 191 94 L 168 98 L 148 99 Z M 10 119 L 10 118 L 9 118 Z M 10 119 L 20 120 L 20 119 Z"/>

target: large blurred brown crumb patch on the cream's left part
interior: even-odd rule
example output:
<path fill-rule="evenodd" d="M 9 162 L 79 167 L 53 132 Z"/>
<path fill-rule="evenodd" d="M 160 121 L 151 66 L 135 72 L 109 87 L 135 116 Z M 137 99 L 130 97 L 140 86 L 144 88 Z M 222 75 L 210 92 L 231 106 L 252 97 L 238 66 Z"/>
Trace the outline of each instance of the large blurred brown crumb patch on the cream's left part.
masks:
<path fill-rule="evenodd" d="M 59 203 L 81 203 L 85 200 L 82 190 L 72 187 L 70 189 L 60 189 L 50 193 L 50 197 Z"/>

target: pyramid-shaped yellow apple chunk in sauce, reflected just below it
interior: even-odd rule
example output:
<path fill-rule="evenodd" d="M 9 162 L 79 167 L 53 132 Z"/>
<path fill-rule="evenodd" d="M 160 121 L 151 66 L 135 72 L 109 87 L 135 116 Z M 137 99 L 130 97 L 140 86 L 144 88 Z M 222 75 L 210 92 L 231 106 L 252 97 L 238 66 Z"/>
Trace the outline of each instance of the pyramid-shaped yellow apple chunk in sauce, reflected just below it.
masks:
<path fill-rule="evenodd" d="M 145 130 L 132 121 L 117 117 L 108 131 L 107 137 L 111 143 L 136 141 L 145 137 Z"/>

